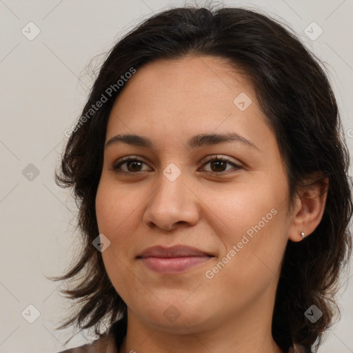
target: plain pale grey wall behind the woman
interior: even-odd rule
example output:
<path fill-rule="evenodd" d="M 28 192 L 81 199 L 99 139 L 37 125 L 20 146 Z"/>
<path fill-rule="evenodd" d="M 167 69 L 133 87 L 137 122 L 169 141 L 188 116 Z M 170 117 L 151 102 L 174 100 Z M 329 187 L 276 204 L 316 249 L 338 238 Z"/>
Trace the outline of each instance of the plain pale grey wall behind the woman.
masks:
<path fill-rule="evenodd" d="M 218 3 L 281 17 L 327 63 L 352 151 L 353 1 Z M 90 59 L 109 50 L 153 12 L 183 4 L 0 0 L 0 352 L 59 352 L 92 338 L 81 332 L 63 345 L 72 331 L 54 328 L 70 309 L 70 302 L 59 296 L 60 283 L 45 277 L 62 274 L 79 250 L 74 202 L 53 178 L 67 141 L 64 131 L 79 117 L 92 85 L 90 75 L 85 74 Z M 313 26 L 313 21 L 319 27 L 309 27 L 313 28 L 310 38 L 305 28 Z M 320 28 L 323 33 L 313 38 Z M 94 62 L 99 64 L 101 59 Z M 353 352 L 352 282 L 352 272 L 342 277 L 338 296 L 342 319 L 328 332 L 321 353 Z"/>

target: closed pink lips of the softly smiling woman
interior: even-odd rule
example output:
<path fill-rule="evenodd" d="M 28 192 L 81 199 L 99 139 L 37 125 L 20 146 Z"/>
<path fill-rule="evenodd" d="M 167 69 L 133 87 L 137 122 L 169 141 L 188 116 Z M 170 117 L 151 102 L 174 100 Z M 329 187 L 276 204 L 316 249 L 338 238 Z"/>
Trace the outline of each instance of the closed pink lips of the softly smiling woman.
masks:
<path fill-rule="evenodd" d="M 212 254 L 185 245 L 170 248 L 158 245 L 145 249 L 137 259 L 159 274 L 179 274 L 202 265 L 212 257 Z"/>

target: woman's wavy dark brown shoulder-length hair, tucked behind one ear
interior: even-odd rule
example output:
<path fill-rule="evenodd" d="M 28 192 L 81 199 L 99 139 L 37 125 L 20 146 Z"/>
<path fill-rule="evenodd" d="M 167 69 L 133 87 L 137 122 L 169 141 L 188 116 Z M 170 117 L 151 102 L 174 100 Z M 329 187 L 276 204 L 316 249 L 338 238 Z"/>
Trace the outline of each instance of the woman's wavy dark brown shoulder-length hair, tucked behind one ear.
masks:
<path fill-rule="evenodd" d="M 80 329 L 95 327 L 98 333 L 102 319 L 112 323 L 126 316 L 126 305 L 92 245 L 99 234 L 95 197 L 107 121 L 123 89 L 117 85 L 122 76 L 156 59 L 187 55 L 227 59 L 252 80 L 288 173 L 289 204 L 307 177 L 329 179 L 321 223 L 303 241 L 288 241 L 272 320 L 272 335 L 282 350 L 287 352 L 296 343 L 316 352 L 323 332 L 332 325 L 336 284 L 352 249 L 349 154 L 336 100 L 319 60 L 281 23 L 243 8 L 174 8 L 155 14 L 119 40 L 101 65 L 83 108 L 86 119 L 77 122 L 56 174 L 57 183 L 74 192 L 84 244 L 81 257 L 56 279 L 80 276 L 74 288 L 63 291 L 79 301 L 79 311 L 61 327 L 76 323 Z M 116 89 L 107 94 L 114 84 Z M 93 112 L 92 105 L 102 94 L 107 101 Z M 323 312 L 316 323 L 304 315 L 311 305 Z"/>

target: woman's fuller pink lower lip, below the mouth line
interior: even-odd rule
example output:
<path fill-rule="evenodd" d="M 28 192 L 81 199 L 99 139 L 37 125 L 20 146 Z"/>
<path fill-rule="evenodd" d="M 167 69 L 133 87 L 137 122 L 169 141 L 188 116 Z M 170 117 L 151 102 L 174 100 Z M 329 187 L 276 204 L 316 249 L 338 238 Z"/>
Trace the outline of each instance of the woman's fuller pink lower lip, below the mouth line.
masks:
<path fill-rule="evenodd" d="M 210 256 L 185 257 L 143 257 L 143 264 L 154 272 L 161 274 L 177 274 L 195 268 L 210 259 Z"/>

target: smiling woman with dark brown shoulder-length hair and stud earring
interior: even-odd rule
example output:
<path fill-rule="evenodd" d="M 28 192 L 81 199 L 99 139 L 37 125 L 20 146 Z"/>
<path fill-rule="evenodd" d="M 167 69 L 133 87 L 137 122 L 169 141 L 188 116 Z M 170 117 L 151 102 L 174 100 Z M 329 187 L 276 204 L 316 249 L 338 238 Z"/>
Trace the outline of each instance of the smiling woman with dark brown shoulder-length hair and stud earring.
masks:
<path fill-rule="evenodd" d="M 57 173 L 85 244 L 61 327 L 100 334 L 65 352 L 316 352 L 351 252 L 340 124 L 262 14 L 175 8 L 121 39 Z"/>

